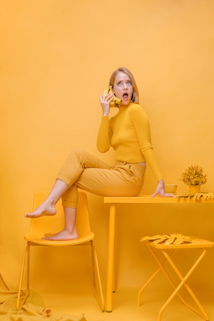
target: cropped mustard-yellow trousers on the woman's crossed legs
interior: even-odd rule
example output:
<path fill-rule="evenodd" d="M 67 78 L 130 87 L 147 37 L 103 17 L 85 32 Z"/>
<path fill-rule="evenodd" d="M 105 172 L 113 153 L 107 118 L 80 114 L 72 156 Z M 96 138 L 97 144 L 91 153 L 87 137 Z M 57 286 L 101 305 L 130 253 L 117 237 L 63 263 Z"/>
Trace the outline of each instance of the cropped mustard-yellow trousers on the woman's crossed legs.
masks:
<path fill-rule="evenodd" d="M 100 196 L 137 196 L 144 173 L 145 168 L 138 163 L 116 161 L 109 166 L 88 152 L 73 150 L 57 175 L 69 187 L 62 204 L 76 208 L 78 188 Z"/>

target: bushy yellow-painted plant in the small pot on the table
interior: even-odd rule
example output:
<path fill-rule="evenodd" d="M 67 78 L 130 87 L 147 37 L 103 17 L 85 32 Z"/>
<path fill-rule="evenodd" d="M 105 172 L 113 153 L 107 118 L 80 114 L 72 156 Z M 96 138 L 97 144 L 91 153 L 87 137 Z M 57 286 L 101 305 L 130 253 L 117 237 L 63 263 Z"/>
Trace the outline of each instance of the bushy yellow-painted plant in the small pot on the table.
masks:
<path fill-rule="evenodd" d="M 186 185 L 203 185 L 207 182 L 207 174 L 202 167 L 191 165 L 182 173 L 180 180 Z"/>

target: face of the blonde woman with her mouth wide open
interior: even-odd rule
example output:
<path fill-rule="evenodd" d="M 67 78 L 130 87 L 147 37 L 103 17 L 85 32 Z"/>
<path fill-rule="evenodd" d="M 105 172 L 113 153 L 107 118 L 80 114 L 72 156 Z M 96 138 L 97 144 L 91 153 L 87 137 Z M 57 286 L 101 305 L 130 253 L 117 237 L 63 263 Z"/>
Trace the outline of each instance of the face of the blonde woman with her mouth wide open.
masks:
<path fill-rule="evenodd" d="M 113 83 L 113 93 L 116 97 L 122 99 L 122 103 L 119 105 L 128 105 L 131 101 L 133 87 L 131 83 L 131 79 L 127 75 L 127 73 L 120 71 L 114 79 Z"/>

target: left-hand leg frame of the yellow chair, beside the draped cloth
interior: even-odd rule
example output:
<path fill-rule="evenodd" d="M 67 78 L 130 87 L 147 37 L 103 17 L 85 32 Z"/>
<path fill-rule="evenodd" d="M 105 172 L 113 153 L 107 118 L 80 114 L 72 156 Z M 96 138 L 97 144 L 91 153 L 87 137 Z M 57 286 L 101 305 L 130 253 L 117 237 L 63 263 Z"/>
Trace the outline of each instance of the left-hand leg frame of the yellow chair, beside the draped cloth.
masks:
<path fill-rule="evenodd" d="M 21 298 L 21 292 L 22 292 L 22 283 L 23 283 L 23 275 L 25 270 L 25 260 L 26 260 L 26 254 L 27 254 L 27 289 L 25 293 L 25 297 L 20 305 L 20 298 Z M 20 277 L 20 286 L 18 288 L 18 295 L 17 295 L 17 303 L 16 303 L 16 310 L 20 310 L 22 306 L 25 304 L 25 301 L 29 294 L 29 263 L 30 263 L 30 244 L 27 242 L 24 254 L 23 254 L 23 262 L 22 262 L 22 270 L 21 270 L 21 277 Z"/>

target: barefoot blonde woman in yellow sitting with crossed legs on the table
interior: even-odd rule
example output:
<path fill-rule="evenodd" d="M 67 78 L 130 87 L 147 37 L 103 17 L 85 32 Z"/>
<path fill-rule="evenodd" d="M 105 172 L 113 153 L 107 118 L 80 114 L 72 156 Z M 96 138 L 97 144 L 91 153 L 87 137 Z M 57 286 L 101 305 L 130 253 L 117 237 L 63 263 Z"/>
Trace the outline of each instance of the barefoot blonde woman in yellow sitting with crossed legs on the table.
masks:
<path fill-rule="evenodd" d="M 141 192 L 146 169 L 149 164 L 158 185 L 151 195 L 166 194 L 164 180 L 152 151 L 150 126 L 146 113 L 139 105 L 137 85 L 131 72 L 119 68 L 110 77 L 112 93 L 101 94 L 103 110 L 97 146 L 100 152 L 113 147 L 115 164 L 109 166 L 93 155 L 74 150 L 62 166 L 55 184 L 46 200 L 26 217 L 39 217 L 56 214 L 55 204 L 62 197 L 65 214 L 65 227 L 50 240 L 78 238 L 76 231 L 76 207 L 78 188 L 101 196 L 137 196 Z M 114 95 L 122 100 L 119 112 L 109 119 L 110 102 Z"/>

